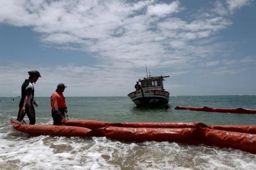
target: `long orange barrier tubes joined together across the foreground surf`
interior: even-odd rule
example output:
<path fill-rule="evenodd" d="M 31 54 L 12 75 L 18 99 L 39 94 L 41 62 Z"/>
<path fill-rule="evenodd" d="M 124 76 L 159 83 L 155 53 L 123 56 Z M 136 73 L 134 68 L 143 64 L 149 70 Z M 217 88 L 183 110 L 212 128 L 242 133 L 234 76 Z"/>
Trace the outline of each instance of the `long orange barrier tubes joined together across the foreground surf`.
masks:
<path fill-rule="evenodd" d="M 151 140 L 183 142 L 231 147 L 256 154 L 256 125 L 211 125 L 207 127 L 203 123 L 110 123 L 92 120 L 67 120 L 65 122 L 66 125 L 73 126 L 21 125 L 13 121 L 11 123 L 16 130 L 30 135 L 103 136 L 132 142 Z"/>

